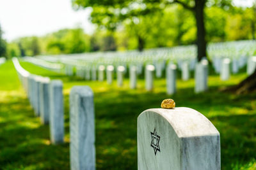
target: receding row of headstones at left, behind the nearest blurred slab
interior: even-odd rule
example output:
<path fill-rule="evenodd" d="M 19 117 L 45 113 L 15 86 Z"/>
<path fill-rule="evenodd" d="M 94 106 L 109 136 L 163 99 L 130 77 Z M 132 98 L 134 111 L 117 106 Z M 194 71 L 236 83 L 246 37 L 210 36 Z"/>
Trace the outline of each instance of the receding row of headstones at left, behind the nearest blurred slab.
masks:
<path fill-rule="evenodd" d="M 54 144 L 63 143 L 64 118 L 63 118 L 63 85 L 61 80 L 50 80 L 48 77 L 30 74 L 23 69 L 17 58 L 13 64 L 26 90 L 29 103 L 35 111 L 35 116 L 40 117 L 42 124 L 50 124 L 50 139 Z"/>

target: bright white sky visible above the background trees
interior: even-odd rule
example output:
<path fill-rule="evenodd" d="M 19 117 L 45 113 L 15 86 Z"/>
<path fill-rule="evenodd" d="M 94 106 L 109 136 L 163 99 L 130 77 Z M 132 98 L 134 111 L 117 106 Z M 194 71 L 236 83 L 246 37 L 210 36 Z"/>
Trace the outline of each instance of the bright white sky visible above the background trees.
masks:
<path fill-rule="evenodd" d="M 254 0 L 234 0 L 239 6 L 252 6 Z M 0 0 L 0 24 L 4 38 L 42 36 L 49 32 L 80 25 L 92 33 L 90 10 L 72 10 L 71 0 Z"/>

